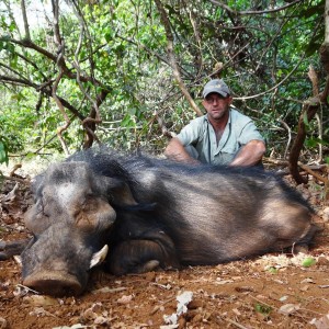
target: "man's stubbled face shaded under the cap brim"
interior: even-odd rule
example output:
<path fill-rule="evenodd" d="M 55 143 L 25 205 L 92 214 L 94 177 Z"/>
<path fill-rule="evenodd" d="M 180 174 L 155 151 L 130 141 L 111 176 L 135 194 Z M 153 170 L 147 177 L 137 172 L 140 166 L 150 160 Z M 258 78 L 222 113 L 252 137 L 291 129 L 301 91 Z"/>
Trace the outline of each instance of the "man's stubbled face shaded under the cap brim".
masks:
<path fill-rule="evenodd" d="M 216 92 L 209 93 L 202 102 L 211 118 L 218 121 L 227 115 L 230 103 L 230 95 L 224 98 Z"/>

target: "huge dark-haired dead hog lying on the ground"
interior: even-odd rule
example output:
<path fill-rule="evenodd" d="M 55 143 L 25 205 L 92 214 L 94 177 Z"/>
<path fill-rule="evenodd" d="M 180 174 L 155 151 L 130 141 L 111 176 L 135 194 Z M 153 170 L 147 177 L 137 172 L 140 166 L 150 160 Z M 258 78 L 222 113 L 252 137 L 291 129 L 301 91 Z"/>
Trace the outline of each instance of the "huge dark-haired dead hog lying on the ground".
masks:
<path fill-rule="evenodd" d="M 34 193 L 23 284 L 53 295 L 83 292 L 103 259 L 117 275 L 218 264 L 307 245 L 316 231 L 305 200 L 250 168 L 89 150 L 50 166 Z"/>

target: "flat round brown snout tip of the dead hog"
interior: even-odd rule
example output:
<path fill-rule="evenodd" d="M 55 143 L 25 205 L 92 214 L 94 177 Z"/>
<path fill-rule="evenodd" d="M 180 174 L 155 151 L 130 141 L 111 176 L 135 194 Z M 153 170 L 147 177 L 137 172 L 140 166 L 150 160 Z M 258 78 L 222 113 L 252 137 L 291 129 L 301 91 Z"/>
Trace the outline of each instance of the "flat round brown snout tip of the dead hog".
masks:
<path fill-rule="evenodd" d="M 73 275 L 61 272 L 31 274 L 23 280 L 23 285 L 42 294 L 57 297 L 80 295 L 83 292 L 83 287 Z"/>

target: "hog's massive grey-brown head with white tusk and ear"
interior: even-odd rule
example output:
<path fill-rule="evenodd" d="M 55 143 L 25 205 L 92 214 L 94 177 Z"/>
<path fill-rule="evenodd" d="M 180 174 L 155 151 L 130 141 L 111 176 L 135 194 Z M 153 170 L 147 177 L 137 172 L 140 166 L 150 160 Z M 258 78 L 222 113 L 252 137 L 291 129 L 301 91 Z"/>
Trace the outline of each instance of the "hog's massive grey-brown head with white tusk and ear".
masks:
<path fill-rule="evenodd" d="M 83 292 L 89 269 L 104 259 L 116 206 L 135 205 L 128 185 L 86 162 L 53 164 L 38 179 L 25 214 L 34 239 L 22 253 L 23 284 L 50 295 Z"/>

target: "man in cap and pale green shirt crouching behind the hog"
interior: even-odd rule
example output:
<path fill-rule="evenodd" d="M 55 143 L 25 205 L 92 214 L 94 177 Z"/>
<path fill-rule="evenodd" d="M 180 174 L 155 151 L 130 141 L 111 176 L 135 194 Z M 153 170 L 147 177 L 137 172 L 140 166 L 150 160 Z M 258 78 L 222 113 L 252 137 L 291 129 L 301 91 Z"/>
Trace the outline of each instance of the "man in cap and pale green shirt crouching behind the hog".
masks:
<path fill-rule="evenodd" d="M 207 114 L 191 121 L 168 144 L 164 155 L 177 161 L 254 166 L 265 152 L 264 139 L 252 120 L 230 109 L 232 98 L 222 79 L 203 90 Z"/>

